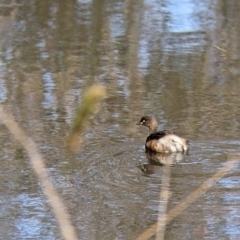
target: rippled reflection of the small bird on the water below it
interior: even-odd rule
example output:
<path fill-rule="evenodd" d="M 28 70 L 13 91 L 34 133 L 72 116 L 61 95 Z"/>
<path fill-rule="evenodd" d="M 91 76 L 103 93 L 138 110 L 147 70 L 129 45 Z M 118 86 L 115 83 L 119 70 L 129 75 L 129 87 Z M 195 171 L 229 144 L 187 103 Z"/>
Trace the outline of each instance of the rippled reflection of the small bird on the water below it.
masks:
<path fill-rule="evenodd" d="M 174 166 L 178 162 L 181 162 L 184 158 L 184 154 L 180 152 L 155 153 L 146 151 L 146 157 L 148 159 L 148 163 L 139 165 L 139 168 L 144 173 L 154 174 L 159 166 Z"/>

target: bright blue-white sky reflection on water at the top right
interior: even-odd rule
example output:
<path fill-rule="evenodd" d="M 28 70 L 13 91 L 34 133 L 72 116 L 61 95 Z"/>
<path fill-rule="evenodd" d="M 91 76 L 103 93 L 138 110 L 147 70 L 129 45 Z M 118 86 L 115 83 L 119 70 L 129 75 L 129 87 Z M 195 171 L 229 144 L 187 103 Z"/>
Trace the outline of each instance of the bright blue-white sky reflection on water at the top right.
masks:
<path fill-rule="evenodd" d="M 146 69 L 151 55 L 159 51 L 191 53 L 193 48 L 204 45 L 196 9 L 190 0 L 145 2 L 139 46 L 141 69 Z"/>

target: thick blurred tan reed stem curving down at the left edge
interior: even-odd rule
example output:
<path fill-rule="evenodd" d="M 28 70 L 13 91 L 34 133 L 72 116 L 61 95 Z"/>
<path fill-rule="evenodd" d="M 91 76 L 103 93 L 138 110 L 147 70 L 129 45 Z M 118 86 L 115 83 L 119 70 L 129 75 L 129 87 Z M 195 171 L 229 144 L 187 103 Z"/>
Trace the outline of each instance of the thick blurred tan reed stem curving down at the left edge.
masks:
<path fill-rule="evenodd" d="M 18 126 L 13 117 L 0 105 L 0 120 L 6 125 L 13 136 L 22 144 L 28 153 L 32 168 L 40 181 L 42 192 L 47 198 L 58 221 L 62 237 L 66 240 L 77 240 L 75 230 L 69 220 L 65 205 L 48 176 L 43 157 L 39 153 L 35 142 Z"/>

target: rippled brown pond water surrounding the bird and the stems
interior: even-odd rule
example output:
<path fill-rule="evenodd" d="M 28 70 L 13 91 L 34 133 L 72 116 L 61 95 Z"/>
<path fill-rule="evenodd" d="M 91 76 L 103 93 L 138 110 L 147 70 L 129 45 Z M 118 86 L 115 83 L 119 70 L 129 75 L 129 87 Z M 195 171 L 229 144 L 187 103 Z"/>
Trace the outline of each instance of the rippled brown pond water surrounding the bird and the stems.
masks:
<path fill-rule="evenodd" d="M 36 141 L 79 239 L 136 239 L 161 206 L 177 206 L 238 153 L 239 10 L 223 0 L 0 4 L 0 102 Z M 96 82 L 109 95 L 70 153 L 74 112 Z M 189 154 L 149 161 L 147 129 L 134 126 L 146 114 L 188 138 Z M 0 239 L 61 239 L 25 150 L 3 124 L 0 142 Z M 162 239 L 239 239 L 238 167 Z"/>

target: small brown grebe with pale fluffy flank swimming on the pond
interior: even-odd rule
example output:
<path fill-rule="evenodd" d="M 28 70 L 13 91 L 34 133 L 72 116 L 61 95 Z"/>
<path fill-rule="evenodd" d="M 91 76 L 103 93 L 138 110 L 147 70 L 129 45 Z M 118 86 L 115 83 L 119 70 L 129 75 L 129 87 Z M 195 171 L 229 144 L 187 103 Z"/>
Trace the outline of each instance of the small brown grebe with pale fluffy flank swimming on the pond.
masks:
<path fill-rule="evenodd" d="M 158 123 L 154 117 L 144 116 L 137 125 L 143 125 L 149 128 L 149 136 L 145 143 L 145 149 L 147 151 L 159 153 L 186 153 L 188 151 L 188 140 L 177 136 L 172 131 L 158 131 Z"/>

